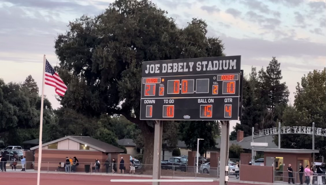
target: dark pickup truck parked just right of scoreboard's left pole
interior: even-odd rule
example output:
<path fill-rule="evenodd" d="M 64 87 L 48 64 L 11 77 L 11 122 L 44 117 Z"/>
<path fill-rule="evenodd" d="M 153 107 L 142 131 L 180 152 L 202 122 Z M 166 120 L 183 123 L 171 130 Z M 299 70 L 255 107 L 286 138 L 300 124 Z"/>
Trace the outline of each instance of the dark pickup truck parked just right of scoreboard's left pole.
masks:
<path fill-rule="evenodd" d="M 161 169 L 186 171 L 188 160 L 185 157 L 170 157 L 169 160 L 161 161 Z"/>

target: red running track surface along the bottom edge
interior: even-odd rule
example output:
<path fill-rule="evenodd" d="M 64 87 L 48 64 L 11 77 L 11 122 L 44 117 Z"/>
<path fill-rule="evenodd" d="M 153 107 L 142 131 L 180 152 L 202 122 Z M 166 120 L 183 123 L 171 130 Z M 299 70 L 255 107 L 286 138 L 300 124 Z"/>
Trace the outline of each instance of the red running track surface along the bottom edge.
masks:
<path fill-rule="evenodd" d="M 111 179 L 149 179 L 139 177 L 77 175 L 77 174 L 41 174 L 40 185 L 151 185 L 152 182 L 111 182 Z M 1 185 L 36 185 L 37 174 L 28 172 L 0 172 Z M 161 182 L 161 185 L 218 185 L 218 182 Z M 230 185 L 246 185 L 231 183 Z"/>

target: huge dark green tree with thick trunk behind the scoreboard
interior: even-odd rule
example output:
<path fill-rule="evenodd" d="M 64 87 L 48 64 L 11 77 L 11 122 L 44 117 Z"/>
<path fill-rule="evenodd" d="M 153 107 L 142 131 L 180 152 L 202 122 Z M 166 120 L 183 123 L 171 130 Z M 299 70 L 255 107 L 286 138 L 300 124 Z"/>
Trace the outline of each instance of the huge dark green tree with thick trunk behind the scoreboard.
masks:
<path fill-rule="evenodd" d="M 148 0 L 117 0 L 96 18 L 84 15 L 55 41 L 57 71 L 69 87 L 61 104 L 89 118 L 122 114 L 138 125 L 144 162 L 152 164 L 153 122 L 139 120 L 141 63 L 224 55 L 221 40 L 206 34 L 205 21 L 178 28 Z"/>

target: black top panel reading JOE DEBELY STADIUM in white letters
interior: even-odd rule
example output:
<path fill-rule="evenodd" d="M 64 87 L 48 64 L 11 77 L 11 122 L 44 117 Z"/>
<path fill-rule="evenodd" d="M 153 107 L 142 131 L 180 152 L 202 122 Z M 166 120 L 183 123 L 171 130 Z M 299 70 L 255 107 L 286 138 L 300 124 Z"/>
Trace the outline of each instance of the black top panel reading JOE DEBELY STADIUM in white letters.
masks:
<path fill-rule="evenodd" d="M 142 77 L 240 73 L 241 56 L 145 61 Z"/>

